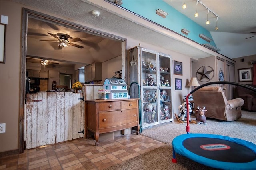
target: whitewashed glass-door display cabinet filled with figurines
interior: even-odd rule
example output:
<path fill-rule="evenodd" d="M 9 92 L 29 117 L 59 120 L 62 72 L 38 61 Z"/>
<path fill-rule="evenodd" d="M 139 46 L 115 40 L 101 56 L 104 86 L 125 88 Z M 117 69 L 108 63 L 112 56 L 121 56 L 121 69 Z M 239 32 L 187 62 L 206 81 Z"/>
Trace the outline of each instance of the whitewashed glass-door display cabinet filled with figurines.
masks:
<path fill-rule="evenodd" d="M 172 122 L 171 58 L 167 54 L 142 47 L 129 49 L 131 98 L 141 98 L 141 128 Z"/>

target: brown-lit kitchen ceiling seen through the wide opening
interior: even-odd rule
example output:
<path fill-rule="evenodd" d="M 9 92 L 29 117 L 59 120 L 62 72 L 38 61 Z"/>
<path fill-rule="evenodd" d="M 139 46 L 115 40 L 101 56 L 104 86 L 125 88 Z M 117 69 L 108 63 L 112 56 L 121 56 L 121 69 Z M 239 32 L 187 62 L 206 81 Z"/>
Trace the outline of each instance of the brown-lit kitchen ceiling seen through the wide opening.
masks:
<path fill-rule="evenodd" d="M 58 46 L 60 35 L 70 36 L 68 40 L 74 46 Z M 54 60 L 60 66 L 87 65 L 93 62 L 105 62 L 121 55 L 121 41 L 100 35 L 89 34 L 38 18 L 28 18 L 27 57 Z M 80 46 L 80 48 L 76 47 Z M 115 48 L 112 48 L 115 47 Z M 28 59 L 27 62 L 36 60 Z M 64 62 L 63 62 L 64 61 Z"/>

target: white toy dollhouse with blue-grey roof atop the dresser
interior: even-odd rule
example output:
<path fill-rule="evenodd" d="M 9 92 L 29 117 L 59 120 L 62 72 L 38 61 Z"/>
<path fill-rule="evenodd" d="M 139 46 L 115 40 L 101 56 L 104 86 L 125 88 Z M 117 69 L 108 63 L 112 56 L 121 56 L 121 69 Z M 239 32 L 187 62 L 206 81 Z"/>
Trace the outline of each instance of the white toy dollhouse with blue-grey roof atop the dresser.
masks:
<path fill-rule="evenodd" d="M 106 78 L 103 87 L 110 90 L 110 93 L 106 94 L 108 99 L 128 98 L 127 84 L 123 79 Z"/>

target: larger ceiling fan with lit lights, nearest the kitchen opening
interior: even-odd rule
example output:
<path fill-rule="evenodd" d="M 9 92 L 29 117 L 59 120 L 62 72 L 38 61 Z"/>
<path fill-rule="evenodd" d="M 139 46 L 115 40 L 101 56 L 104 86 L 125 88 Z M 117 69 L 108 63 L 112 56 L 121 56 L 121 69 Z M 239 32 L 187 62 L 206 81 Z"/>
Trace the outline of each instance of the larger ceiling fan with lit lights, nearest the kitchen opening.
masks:
<path fill-rule="evenodd" d="M 52 34 L 52 33 L 47 32 L 47 34 L 58 39 L 58 41 L 56 41 L 56 40 L 39 40 L 39 41 L 57 42 L 58 46 L 60 46 L 60 47 L 67 47 L 68 45 L 70 45 L 70 46 L 74 46 L 77 48 L 84 48 L 83 46 L 72 43 L 72 42 L 82 41 L 80 38 L 71 38 L 70 35 L 64 34 L 64 33 Z"/>

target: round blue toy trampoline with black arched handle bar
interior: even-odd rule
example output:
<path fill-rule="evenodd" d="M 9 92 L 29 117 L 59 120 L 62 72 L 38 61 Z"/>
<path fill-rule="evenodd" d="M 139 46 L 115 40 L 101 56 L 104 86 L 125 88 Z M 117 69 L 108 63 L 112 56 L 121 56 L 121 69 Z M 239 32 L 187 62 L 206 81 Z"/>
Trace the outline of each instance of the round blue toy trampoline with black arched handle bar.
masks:
<path fill-rule="evenodd" d="M 256 92 L 255 88 L 244 84 L 225 81 L 221 83 L 242 86 Z M 220 84 L 220 82 L 206 83 L 192 90 L 186 97 L 187 105 L 190 94 L 210 84 Z M 178 153 L 195 162 L 213 168 L 225 170 L 256 170 L 256 145 L 252 142 L 214 134 L 191 134 L 189 133 L 190 127 L 188 120 L 186 131 L 187 134 L 177 136 L 172 141 L 173 163 L 177 162 L 175 153 Z"/>

